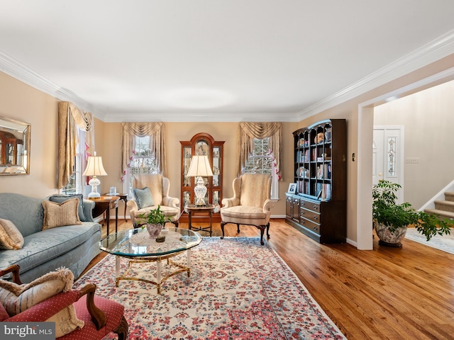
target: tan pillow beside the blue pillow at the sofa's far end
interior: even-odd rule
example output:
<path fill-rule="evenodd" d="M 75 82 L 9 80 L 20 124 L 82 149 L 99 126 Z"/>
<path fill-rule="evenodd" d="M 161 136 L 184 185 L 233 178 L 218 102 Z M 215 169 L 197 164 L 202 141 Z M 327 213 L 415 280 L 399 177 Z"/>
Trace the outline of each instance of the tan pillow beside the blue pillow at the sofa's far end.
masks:
<path fill-rule="evenodd" d="M 77 207 L 79 206 L 77 198 L 70 198 L 63 203 L 43 200 L 42 204 L 44 208 L 43 230 L 64 225 L 82 225 L 77 212 Z"/>

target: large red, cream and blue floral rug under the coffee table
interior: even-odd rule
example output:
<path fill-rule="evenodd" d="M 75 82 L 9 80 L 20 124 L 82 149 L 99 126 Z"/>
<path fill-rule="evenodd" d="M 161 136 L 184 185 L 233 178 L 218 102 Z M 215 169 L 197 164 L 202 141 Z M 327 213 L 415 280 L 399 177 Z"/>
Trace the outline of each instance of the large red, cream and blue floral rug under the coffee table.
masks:
<path fill-rule="evenodd" d="M 185 263 L 186 253 L 172 258 Z M 108 255 L 74 284 L 125 306 L 128 339 L 345 339 L 279 255 L 258 237 L 205 237 L 192 249 L 192 271 L 162 284 L 121 280 Z M 163 262 L 164 263 L 164 262 Z M 134 275 L 154 278 L 156 263 Z M 126 270 L 127 259 L 121 259 Z M 174 267 L 163 265 L 162 274 Z M 115 334 L 105 339 L 116 339 Z"/>

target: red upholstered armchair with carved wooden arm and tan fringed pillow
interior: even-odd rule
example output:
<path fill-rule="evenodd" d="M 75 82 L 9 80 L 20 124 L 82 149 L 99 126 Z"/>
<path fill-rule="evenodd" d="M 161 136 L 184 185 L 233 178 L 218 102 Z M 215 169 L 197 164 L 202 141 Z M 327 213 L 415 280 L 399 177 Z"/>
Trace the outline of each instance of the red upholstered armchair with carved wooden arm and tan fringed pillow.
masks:
<path fill-rule="evenodd" d="M 13 281 L 0 279 L 0 322 L 55 322 L 55 338 L 96 340 L 114 331 L 119 340 L 128 336 L 124 307 L 95 296 L 96 285 L 72 289 L 74 276 L 59 268 L 22 284 L 19 266 L 0 271 L 13 274 Z"/>

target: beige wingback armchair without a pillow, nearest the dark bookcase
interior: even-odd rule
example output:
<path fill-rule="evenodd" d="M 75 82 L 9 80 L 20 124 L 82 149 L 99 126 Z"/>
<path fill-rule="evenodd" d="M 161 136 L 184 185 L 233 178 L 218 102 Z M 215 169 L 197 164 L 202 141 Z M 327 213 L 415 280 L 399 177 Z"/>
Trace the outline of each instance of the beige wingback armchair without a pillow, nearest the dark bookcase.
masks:
<path fill-rule="evenodd" d="M 224 198 L 221 208 L 221 230 L 224 225 L 234 223 L 237 232 L 240 225 L 254 225 L 260 229 L 260 244 L 267 229 L 270 238 L 270 209 L 274 202 L 271 196 L 271 176 L 266 174 L 244 174 L 233 180 L 233 198 Z"/>

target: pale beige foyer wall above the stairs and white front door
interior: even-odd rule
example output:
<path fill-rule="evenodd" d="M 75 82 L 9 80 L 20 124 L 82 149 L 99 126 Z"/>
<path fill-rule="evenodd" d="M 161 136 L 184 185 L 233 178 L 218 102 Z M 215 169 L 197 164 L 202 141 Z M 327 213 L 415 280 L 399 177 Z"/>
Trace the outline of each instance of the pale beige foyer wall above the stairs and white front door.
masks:
<path fill-rule="evenodd" d="M 404 125 L 404 200 L 420 208 L 454 179 L 454 81 L 374 109 L 374 125 Z"/>

